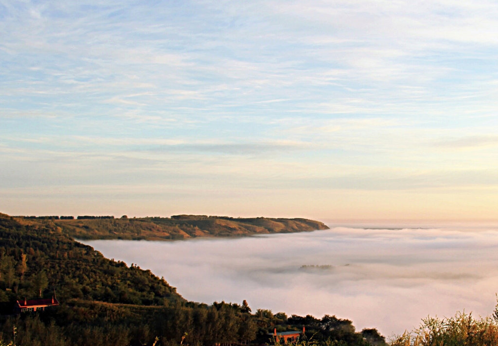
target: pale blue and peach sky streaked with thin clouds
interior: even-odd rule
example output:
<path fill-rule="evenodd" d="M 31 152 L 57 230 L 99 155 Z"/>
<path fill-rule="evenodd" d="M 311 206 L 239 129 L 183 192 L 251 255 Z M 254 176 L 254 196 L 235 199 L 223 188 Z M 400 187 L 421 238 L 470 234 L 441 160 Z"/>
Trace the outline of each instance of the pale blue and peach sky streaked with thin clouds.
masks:
<path fill-rule="evenodd" d="M 493 220 L 496 1 L 0 0 L 0 211 Z"/>

